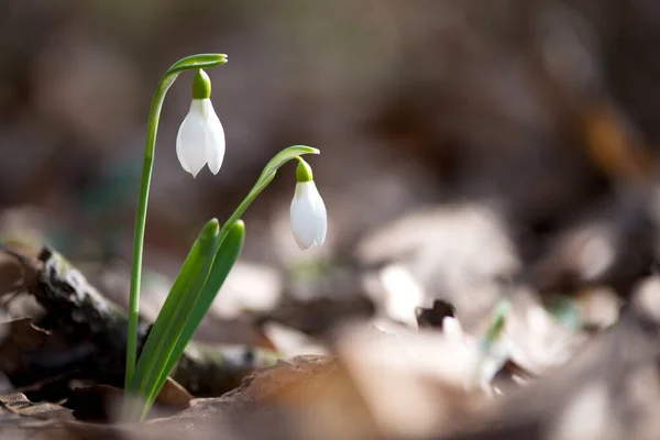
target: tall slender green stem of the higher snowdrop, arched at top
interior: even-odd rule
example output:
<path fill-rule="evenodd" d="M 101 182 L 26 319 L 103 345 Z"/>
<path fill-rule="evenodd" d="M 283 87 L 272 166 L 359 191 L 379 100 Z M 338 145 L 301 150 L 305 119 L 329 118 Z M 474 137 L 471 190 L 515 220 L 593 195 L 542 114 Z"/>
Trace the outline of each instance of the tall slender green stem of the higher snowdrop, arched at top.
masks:
<path fill-rule="evenodd" d="M 131 268 L 131 290 L 129 298 L 129 331 L 127 334 L 127 367 L 124 387 L 128 388 L 135 373 L 135 360 L 138 356 L 138 326 L 140 317 L 140 284 L 142 278 L 142 254 L 144 249 L 144 229 L 146 224 L 146 208 L 148 204 L 148 188 L 156 150 L 156 134 L 163 101 L 167 90 L 180 72 L 208 68 L 227 63 L 223 54 L 199 54 L 179 59 L 167 69 L 152 100 L 148 112 L 146 129 L 146 143 L 144 147 L 144 163 L 142 166 L 142 179 L 140 182 L 140 196 L 138 200 L 138 213 L 135 215 L 135 231 L 133 235 L 133 265 Z"/>

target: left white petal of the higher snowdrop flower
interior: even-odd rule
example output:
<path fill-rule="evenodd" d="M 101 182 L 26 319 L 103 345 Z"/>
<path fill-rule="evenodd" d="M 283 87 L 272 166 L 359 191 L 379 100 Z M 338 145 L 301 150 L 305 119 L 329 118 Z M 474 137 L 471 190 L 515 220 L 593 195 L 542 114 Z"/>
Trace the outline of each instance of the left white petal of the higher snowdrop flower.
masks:
<path fill-rule="evenodd" d="M 176 155 L 182 167 L 193 177 L 196 177 L 207 163 L 206 124 L 202 118 L 201 101 L 201 99 L 193 100 L 190 110 L 182 122 L 176 136 Z"/>

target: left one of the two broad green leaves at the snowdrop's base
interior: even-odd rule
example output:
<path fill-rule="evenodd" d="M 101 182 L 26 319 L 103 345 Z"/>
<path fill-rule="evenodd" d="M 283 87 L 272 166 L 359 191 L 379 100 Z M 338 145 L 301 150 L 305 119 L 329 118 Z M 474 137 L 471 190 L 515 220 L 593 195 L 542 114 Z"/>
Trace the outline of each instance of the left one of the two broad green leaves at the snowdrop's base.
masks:
<path fill-rule="evenodd" d="M 144 396 L 142 392 L 158 377 L 156 372 L 160 364 L 165 364 L 164 358 L 176 343 L 173 336 L 180 333 L 183 323 L 177 324 L 177 321 L 180 321 L 179 315 L 186 299 L 190 292 L 201 290 L 209 275 L 218 246 L 219 229 L 218 220 L 209 221 L 188 253 L 146 339 L 129 392 Z"/>

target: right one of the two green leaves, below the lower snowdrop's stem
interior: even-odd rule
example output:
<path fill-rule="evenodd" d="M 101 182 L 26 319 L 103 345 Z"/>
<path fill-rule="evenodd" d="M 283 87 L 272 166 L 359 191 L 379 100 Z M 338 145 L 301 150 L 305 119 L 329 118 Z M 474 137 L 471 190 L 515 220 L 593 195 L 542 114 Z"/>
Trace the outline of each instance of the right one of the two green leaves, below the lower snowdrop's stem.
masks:
<path fill-rule="evenodd" d="M 143 418 L 146 417 L 148 409 L 155 402 L 161 388 L 165 384 L 167 375 L 178 362 L 179 358 L 184 353 L 184 350 L 186 349 L 186 345 L 188 342 L 190 342 L 190 339 L 193 339 L 195 330 L 197 330 L 197 327 L 199 327 L 199 323 L 211 307 L 213 299 L 216 299 L 218 292 L 224 284 L 227 276 L 239 258 L 244 241 L 245 223 L 243 223 L 242 220 L 239 220 L 233 224 L 232 228 L 230 228 L 227 238 L 220 244 L 218 252 L 216 253 L 216 260 L 213 261 L 209 277 L 207 278 L 204 288 L 198 294 L 197 301 L 195 302 L 195 306 L 187 318 L 186 324 L 184 326 L 178 340 L 176 341 L 169 359 L 167 360 L 167 364 L 163 369 L 160 369 L 161 377 L 158 377 L 153 389 L 148 391 L 148 394 L 146 395 L 146 405 L 142 414 Z"/>

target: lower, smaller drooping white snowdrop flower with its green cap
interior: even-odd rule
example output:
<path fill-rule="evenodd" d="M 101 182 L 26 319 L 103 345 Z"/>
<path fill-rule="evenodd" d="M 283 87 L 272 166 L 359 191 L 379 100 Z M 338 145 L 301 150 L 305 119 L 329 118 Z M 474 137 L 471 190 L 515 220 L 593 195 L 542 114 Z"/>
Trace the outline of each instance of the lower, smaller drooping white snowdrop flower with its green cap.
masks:
<path fill-rule="evenodd" d="M 296 193 L 292 200 L 292 232 L 302 251 L 312 244 L 321 245 L 326 241 L 328 213 L 326 205 L 317 189 L 311 167 L 298 157 L 296 168 Z"/>

